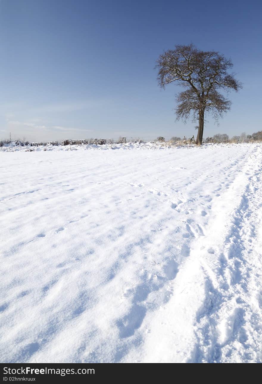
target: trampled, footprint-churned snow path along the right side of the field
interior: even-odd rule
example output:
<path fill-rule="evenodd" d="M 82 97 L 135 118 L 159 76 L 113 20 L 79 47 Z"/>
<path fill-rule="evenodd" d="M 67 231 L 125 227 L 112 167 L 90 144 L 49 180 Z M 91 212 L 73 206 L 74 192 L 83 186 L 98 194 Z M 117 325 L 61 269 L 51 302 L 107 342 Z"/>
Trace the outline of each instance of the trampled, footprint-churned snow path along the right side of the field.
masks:
<path fill-rule="evenodd" d="M 246 174 L 251 174 L 224 245 L 208 249 L 213 258 L 201 258 L 205 301 L 196 314 L 197 342 L 188 361 L 262 361 L 262 265 L 261 253 L 255 249 L 259 242 L 255 228 L 262 224 L 261 164 L 262 151 L 257 148 L 247 165 Z"/>

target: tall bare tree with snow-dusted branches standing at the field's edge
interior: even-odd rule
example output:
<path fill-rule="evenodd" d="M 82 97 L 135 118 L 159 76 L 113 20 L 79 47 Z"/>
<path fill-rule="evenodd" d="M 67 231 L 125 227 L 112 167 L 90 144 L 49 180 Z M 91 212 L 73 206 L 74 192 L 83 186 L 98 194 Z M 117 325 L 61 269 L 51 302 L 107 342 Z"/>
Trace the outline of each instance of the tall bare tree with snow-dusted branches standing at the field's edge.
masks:
<path fill-rule="evenodd" d="M 187 119 L 193 112 L 193 120 L 198 119 L 196 144 L 202 144 L 204 114 L 211 112 L 216 120 L 230 109 L 231 101 L 218 89 L 238 91 L 241 83 L 234 74 L 227 72 L 233 66 L 230 59 L 215 51 L 200 51 L 193 44 L 176 45 L 159 56 L 156 68 L 162 88 L 177 81 L 185 91 L 177 94 L 177 119 Z M 198 115 L 198 117 L 197 117 Z"/>

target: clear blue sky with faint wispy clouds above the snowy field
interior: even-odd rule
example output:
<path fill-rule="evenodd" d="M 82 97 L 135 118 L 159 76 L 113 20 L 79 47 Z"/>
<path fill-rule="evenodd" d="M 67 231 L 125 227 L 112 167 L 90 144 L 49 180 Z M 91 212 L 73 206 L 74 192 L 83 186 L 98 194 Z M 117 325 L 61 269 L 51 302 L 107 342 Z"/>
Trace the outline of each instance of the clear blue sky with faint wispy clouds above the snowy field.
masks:
<path fill-rule="evenodd" d="M 31 141 L 192 136 L 161 90 L 158 56 L 194 43 L 230 57 L 244 83 L 204 137 L 261 130 L 261 2 L 0 0 L 0 137 Z"/>

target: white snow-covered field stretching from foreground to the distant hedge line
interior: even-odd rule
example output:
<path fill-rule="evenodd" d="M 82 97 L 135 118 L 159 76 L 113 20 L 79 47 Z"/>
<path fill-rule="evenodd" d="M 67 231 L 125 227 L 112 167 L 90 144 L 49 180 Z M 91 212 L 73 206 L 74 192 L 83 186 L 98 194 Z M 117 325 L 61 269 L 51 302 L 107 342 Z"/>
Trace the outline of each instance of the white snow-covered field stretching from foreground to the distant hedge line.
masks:
<path fill-rule="evenodd" d="M 87 148 L 1 149 L 0 361 L 262 362 L 262 145 Z"/>

